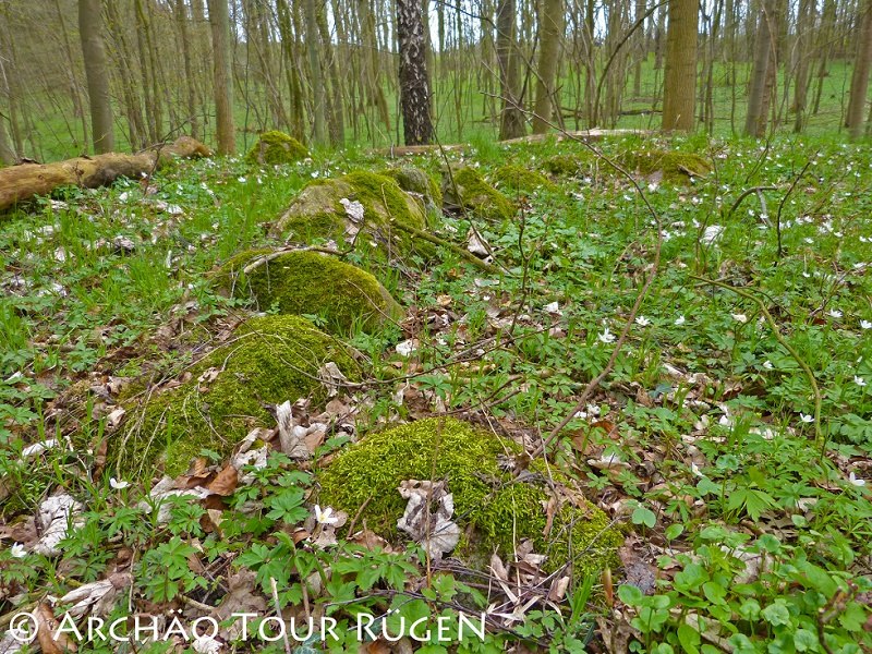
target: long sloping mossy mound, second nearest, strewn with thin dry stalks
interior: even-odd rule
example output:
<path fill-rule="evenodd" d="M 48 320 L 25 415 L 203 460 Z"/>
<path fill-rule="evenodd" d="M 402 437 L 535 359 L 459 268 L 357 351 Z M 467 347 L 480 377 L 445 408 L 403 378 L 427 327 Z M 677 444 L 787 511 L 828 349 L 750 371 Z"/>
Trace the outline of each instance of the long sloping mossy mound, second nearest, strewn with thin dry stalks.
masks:
<path fill-rule="evenodd" d="M 323 402 L 327 390 L 318 371 L 327 362 L 349 379 L 360 378 L 346 347 L 305 318 L 251 318 L 189 368 L 186 382 L 128 407 L 122 432 L 109 441 L 110 461 L 128 475 L 160 461 L 177 475 L 204 448 L 228 456 L 253 427 L 275 426 L 268 405 L 305 397 Z"/>

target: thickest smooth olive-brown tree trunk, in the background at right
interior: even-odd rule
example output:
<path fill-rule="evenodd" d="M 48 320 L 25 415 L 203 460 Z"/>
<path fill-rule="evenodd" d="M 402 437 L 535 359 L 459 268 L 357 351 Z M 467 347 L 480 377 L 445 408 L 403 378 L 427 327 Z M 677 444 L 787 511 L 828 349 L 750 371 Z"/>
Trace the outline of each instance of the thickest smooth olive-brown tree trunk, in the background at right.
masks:
<path fill-rule="evenodd" d="M 663 129 L 691 132 L 695 125 L 697 0 L 669 0 L 666 33 L 666 72 L 663 90 Z"/>

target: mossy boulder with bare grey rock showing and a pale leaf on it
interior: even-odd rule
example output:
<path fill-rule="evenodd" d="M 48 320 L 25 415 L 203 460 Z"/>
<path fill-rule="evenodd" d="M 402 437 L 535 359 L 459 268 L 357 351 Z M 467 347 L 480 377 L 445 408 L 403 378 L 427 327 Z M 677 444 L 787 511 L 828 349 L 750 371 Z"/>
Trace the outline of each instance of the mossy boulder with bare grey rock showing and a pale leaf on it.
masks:
<path fill-rule="evenodd" d="M 341 201 L 359 202 L 363 221 L 354 222 Z M 346 240 L 349 228 L 362 229 L 370 238 L 358 238 L 358 245 L 375 242 L 383 250 L 403 253 L 417 246 L 399 226 L 426 229 L 424 203 L 400 189 L 389 177 L 365 170 L 341 178 L 311 182 L 279 218 L 275 232 L 288 240 Z"/>

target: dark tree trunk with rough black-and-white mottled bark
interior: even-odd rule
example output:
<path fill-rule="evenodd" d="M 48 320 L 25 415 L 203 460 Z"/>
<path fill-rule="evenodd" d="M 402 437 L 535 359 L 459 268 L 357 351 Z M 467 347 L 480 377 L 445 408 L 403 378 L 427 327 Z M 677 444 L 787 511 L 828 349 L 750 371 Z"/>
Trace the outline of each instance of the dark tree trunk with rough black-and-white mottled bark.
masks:
<path fill-rule="evenodd" d="M 403 137 L 405 145 L 426 145 L 433 138 L 433 122 L 420 0 L 397 0 L 397 37 Z"/>

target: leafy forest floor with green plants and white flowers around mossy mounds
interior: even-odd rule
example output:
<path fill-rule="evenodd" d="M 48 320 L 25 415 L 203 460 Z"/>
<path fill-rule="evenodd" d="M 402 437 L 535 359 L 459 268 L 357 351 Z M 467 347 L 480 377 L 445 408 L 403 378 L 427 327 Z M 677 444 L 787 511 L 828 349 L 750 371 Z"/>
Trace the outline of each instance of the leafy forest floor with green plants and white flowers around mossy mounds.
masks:
<path fill-rule="evenodd" d="M 0 218 L 0 652 L 870 651 L 872 150 L 798 137 L 596 147 L 630 174 L 571 142 L 402 161 L 215 158 Z M 695 153 L 707 170 L 643 172 L 628 155 L 656 149 Z M 504 175 L 508 219 L 440 215 L 428 229 L 453 247 L 344 252 L 403 313 L 335 337 L 355 375 L 325 382 L 331 397 L 284 398 L 283 432 L 262 425 L 229 455 L 203 447 L 169 477 L 135 450 L 112 462 L 143 398 L 205 392 L 223 372 L 192 382 L 190 370 L 232 346 L 254 307 L 221 294 L 215 270 L 286 246 L 274 228 L 304 185 L 401 165 L 438 178 L 444 157 L 488 180 L 513 164 L 548 183 Z M 458 249 L 491 251 L 489 266 Z M 354 441 L 433 416 L 511 453 L 511 482 L 470 484 L 546 488 L 532 517 L 511 514 L 511 496 L 508 546 L 470 554 L 472 532 L 489 528 L 467 519 L 484 507 L 452 516 L 436 486 L 419 499 L 463 530 L 440 560 L 436 518 L 410 536 L 360 519 L 373 494 L 322 506 Z M 457 427 L 438 425 L 437 437 Z M 312 437 L 308 457 L 287 451 L 291 427 Z M 246 449 L 268 456 L 243 462 Z M 576 533 L 561 517 L 578 510 L 602 510 L 600 533 L 622 544 L 590 565 L 590 536 L 580 555 L 550 548 L 556 525 Z M 524 520 L 540 533 L 520 537 Z M 332 635 L 277 638 L 276 604 L 286 619 L 335 619 Z M 483 611 L 483 638 L 459 632 Z M 233 613 L 256 616 L 254 637 Z M 89 618 L 120 620 L 123 634 L 133 615 L 161 616 L 168 641 L 82 642 Z M 371 630 L 354 628 L 360 615 Z M 168 633 L 173 616 L 182 631 Z M 202 621 L 193 640 L 203 617 L 217 635 Z M 408 630 L 419 618 L 427 638 Z M 29 621 L 36 641 L 20 647 Z"/>

